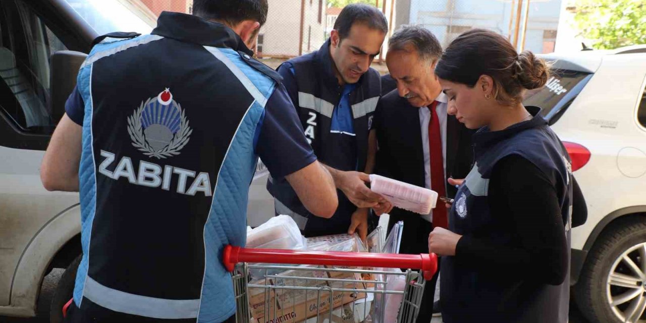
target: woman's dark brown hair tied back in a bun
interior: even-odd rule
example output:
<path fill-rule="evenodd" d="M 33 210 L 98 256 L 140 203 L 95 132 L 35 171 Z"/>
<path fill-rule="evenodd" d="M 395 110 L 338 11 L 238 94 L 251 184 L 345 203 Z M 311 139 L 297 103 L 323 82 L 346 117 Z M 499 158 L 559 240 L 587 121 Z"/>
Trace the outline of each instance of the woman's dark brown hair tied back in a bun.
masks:
<path fill-rule="evenodd" d="M 503 104 L 515 104 L 522 101 L 525 90 L 547 83 L 550 67 L 528 50 L 518 54 L 500 34 L 472 29 L 448 45 L 435 74 L 468 87 L 474 87 L 480 76 L 488 75 L 494 79 L 494 98 Z"/>

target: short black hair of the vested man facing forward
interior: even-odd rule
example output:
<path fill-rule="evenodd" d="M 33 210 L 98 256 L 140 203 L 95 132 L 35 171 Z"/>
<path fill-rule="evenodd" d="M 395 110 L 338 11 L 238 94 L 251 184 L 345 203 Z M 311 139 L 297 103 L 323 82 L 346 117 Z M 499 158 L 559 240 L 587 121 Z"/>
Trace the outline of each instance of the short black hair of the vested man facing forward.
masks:
<path fill-rule="evenodd" d="M 388 21 L 379 9 L 363 3 L 353 3 L 341 10 L 334 23 L 334 29 L 339 32 L 339 38 L 348 37 L 350 28 L 355 23 L 363 23 L 371 29 L 381 30 L 384 34 L 388 33 Z"/>

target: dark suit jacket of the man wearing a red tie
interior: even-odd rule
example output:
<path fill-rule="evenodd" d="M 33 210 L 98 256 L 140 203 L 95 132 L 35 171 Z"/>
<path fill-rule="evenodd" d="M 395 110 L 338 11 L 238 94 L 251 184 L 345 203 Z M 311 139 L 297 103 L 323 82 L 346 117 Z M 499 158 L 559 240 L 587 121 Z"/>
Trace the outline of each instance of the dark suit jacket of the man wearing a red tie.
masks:
<path fill-rule="evenodd" d="M 401 98 L 397 90 L 379 100 L 373 120 L 373 129 L 377 131 L 379 143 L 375 173 L 424 187 L 424 150 L 418 109 L 410 105 L 408 100 Z M 475 130 L 466 129 L 454 116 L 447 117 L 446 177 L 465 178 L 471 171 L 474 159 L 471 136 Z M 450 198 L 453 198 L 456 192 L 455 187 L 447 184 L 446 193 Z M 444 205 L 439 202 L 437 207 Z M 430 226 L 420 223 L 426 220 L 417 213 L 393 208 L 388 230 L 400 220 L 404 221 L 400 253 L 428 253 L 426 231 Z M 426 229 L 420 230 L 421 227 Z"/>

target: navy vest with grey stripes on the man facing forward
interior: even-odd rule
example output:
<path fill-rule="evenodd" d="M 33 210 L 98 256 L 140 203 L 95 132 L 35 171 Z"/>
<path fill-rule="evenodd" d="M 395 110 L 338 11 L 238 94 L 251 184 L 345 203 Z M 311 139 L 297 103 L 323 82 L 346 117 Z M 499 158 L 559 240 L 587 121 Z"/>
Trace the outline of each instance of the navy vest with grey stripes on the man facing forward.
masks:
<path fill-rule="evenodd" d="M 368 156 L 368 133 L 381 92 L 379 72 L 370 68 L 350 93 L 355 136 L 349 137 L 330 132 L 331 116 L 333 109 L 339 105 L 342 87 L 333 73 L 329 39 L 316 52 L 288 62 L 294 68 L 298 84 L 298 101 L 294 105 L 318 160 L 341 171 L 364 171 Z M 347 140 L 353 142 L 348 143 Z M 349 154 L 346 149 L 340 149 L 339 143 L 344 147 L 356 147 L 356 155 L 353 154 L 356 161 L 348 161 Z M 292 216 L 306 235 L 345 233 L 350 224 L 350 215 L 357 209 L 344 193 L 337 190 L 337 213 L 330 219 L 318 218 L 311 216 L 284 178 L 270 178 L 267 190 L 276 199 L 276 213 Z"/>

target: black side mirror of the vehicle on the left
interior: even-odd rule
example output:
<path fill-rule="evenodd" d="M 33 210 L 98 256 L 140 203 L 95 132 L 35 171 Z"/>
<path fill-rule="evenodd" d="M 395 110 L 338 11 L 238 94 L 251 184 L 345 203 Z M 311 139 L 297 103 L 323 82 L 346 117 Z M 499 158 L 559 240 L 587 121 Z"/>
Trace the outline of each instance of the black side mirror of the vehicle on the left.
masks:
<path fill-rule="evenodd" d="M 86 54 L 72 50 L 60 50 L 50 59 L 50 101 L 49 110 L 54 124 L 65 114 L 65 102 L 76 87 L 76 76 L 85 61 Z"/>

